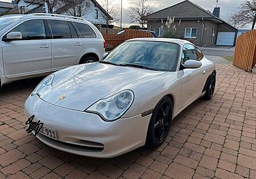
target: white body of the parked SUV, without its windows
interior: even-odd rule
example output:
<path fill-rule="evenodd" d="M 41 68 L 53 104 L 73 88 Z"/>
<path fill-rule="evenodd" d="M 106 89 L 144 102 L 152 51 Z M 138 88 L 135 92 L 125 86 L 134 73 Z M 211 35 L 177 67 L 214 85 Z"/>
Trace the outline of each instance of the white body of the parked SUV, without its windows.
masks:
<path fill-rule="evenodd" d="M 16 16 L 18 20 L 0 30 L 0 45 L 2 46 L 0 64 L 3 64 L 1 86 L 14 80 L 34 78 L 68 66 L 77 65 L 80 59 L 89 53 L 93 53 L 98 59 L 101 59 L 105 53 L 104 39 L 100 31 L 86 20 L 65 18 L 57 15 L 49 16 L 47 14 L 10 16 Z M 65 20 L 88 24 L 96 33 L 97 38 L 2 41 L 2 37 L 13 28 L 27 20 L 35 19 Z M 43 48 L 40 48 L 40 46 L 43 46 Z M 44 48 L 44 46 L 47 48 Z"/>

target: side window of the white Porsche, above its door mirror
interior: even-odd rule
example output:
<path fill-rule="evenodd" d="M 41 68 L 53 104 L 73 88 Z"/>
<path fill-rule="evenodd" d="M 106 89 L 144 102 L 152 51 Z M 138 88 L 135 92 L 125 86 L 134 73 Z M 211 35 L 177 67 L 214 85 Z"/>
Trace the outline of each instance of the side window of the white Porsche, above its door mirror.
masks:
<path fill-rule="evenodd" d="M 187 61 L 188 59 L 195 59 L 197 61 L 200 61 L 204 57 L 203 53 L 196 48 L 196 46 L 191 44 L 185 44 L 183 47 L 183 63 Z"/>

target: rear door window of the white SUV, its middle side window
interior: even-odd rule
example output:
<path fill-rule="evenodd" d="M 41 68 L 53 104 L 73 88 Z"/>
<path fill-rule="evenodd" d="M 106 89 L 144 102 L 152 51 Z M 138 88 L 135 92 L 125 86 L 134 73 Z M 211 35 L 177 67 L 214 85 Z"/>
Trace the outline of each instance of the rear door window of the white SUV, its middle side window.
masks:
<path fill-rule="evenodd" d="M 68 22 L 64 20 L 49 20 L 53 39 L 71 39 Z"/>

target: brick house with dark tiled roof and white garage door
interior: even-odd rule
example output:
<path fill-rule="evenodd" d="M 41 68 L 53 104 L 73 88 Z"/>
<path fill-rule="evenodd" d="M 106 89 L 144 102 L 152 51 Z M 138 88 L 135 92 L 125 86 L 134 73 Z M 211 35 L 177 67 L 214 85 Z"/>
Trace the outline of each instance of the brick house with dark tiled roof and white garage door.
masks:
<path fill-rule="evenodd" d="M 147 29 L 162 36 L 167 18 L 175 18 L 176 36 L 189 40 L 198 46 L 231 45 L 236 42 L 237 29 L 220 19 L 220 7 L 213 14 L 204 8 L 183 1 L 145 16 Z M 180 25 L 179 25 L 180 22 Z"/>

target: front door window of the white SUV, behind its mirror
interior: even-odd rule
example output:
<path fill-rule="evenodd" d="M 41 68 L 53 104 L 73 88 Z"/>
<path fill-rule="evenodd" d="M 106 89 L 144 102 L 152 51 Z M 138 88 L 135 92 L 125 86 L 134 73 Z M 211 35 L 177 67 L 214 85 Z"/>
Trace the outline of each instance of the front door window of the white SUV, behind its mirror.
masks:
<path fill-rule="evenodd" d="M 18 25 L 10 32 L 21 32 L 22 40 L 47 39 L 43 20 L 28 20 Z"/>

